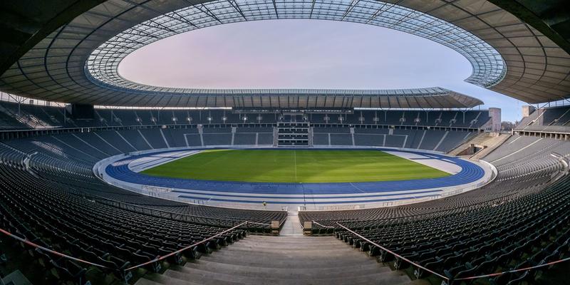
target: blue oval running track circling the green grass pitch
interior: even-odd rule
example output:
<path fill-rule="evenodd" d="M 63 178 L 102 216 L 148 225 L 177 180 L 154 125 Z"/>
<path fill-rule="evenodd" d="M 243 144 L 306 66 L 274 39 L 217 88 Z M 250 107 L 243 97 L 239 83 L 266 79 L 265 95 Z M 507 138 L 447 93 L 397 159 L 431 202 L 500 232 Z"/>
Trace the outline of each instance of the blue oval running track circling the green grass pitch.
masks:
<path fill-rule="evenodd" d="M 343 149 L 346 150 L 346 149 Z M 362 149 L 359 149 L 362 150 Z M 375 148 L 373 150 L 387 150 Z M 362 201 L 346 201 L 350 203 L 358 202 L 384 202 L 405 198 L 390 199 L 390 196 L 396 195 L 410 195 L 414 197 L 428 197 L 437 195 L 442 190 L 437 188 L 452 187 L 458 185 L 465 185 L 470 182 L 480 180 L 484 176 L 484 170 L 475 163 L 461 160 L 457 157 L 449 157 L 446 155 L 438 155 L 413 150 L 398 150 L 400 152 L 408 152 L 417 155 L 423 155 L 437 160 L 444 160 L 461 167 L 461 171 L 455 175 L 448 177 L 423 179 L 423 180 L 403 180 L 403 181 L 383 181 L 383 182 L 352 182 L 352 183 L 267 183 L 267 182 L 226 182 L 226 181 L 211 181 L 211 180 L 189 180 L 180 178 L 167 178 L 167 177 L 153 177 L 149 175 L 142 175 L 137 172 L 129 170 L 128 165 L 134 160 L 142 157 L 149 157 L 157 154 L 164 154 L 172 152 L 172 150 L 152 152 L 143 155 L 133 155 L 126 157 L 117 162 L 113 162 L 105 168 L 105 172 L 110 177 L 124 182 L 135 183 L 139 185 L 150 185 L 155 187 L 176 188 L 174 193 L 180 194 L 179 197 L 187 199 L 204 199 L 204 197 L 192 195 L 209 195 L 211 200 L 220 202 L 259 202 L 259 198 L 266 199 L 290 199 L 299 198 L 303 199 L 305 196 L 311 199 L 323 199 L 326 202 L 323 204 L 334 204 L 344 198 L 363 198 Z M 426 158 L 427 159 L 427 158 Z M 216 192 L 216 193 L 212 193 Z M 385 193 L 383 192 L 401 192 L 401 194 Z M 369 195 L 367 195 L 369 193 Z M 295 196 L 293 196 L 295 195 Z M 299 196 L 298 196 L 299 195 Z M 337 195 L 337 196 L 331 196 Z M 339 197 L 338 195 L 341 195 Z M 345 196 L 342 196 L 345 195 Z M 258 198 L 257 200 L 244 201 L 243 199 L 236 198 Z M 376 199 L 374 197 L 384 197 L 383 199 Z M 409 197 L 408 199 L 412 199 Z M 328 200 L 330 199 L 330 200 Z M 279 203 L 279 202 L 276 202 Z M 301 202 L 303 203 L 303 202 Z M 316 202 L 320 203 L 320 202 Z M 282 202 L 281 204 L 294 204 L 294 202 Z"/>

